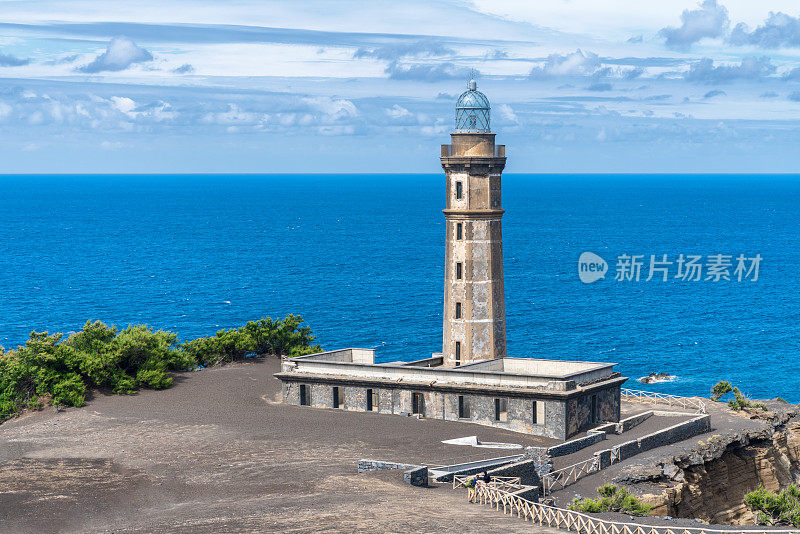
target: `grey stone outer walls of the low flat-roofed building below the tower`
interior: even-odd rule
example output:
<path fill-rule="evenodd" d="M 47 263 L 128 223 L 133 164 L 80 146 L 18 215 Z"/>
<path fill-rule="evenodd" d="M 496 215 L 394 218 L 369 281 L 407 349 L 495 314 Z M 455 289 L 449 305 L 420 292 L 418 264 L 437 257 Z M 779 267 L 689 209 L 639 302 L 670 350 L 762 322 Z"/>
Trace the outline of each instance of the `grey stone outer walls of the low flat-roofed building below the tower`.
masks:
<path fill-rule="evenodd" d="M 300 384 L 284 382 L 283 401 L 286 404 L 300 404 Z M 313 382 L 304 384 L 309 387 L 311 406 L 333 408 L 333 385 Z M 338 387 L 341 398 L 340 409 L 359 412 L 367 410 L 366 387 L 347 385 Z M 591 402 L 590 395 L 584 395 L 579 399 L 561 401 L 549 398 L 496 397 L 464 393 L 463 396 L 470 405 L 470 416 L 462 419 L 458 417 L 458 393 L 402 387 L 371 389 L 378 394 L 378 404 L 374 406 L 373 411 L 383 414 L 412 413 L 412 393 L 422 393 L 425 402 L 424 416 L 431 419 L 477 423 L 554 439 L 567 439 L 577 432 L 585 430 L 587 425 L 596 426 L 588 423 L 589 405 L 587 405 L 587 402 Z M 613 389 L 610 388 L 598 392 L 598 412 L 612 415 L 612 417 L 605 420 L 618 421 L 619 388 L 616 388 L 616 395 Z M 496 398 L 506 400 L 507 418 L 505 421 L 495 420 Z M 536 424 L 533 423 L 534 401 L 541 403 Z M 614 414 L 616 414 L 616 417 L 613 417 Z"/>

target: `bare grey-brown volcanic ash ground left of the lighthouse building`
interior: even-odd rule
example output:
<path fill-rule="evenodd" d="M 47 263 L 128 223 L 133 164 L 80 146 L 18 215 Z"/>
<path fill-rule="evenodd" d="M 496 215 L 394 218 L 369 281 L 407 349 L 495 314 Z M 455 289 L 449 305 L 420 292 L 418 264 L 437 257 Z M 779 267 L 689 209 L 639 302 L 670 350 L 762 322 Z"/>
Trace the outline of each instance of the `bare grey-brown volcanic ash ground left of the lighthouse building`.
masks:
<path fill-rule="evenodd" d="M 558 532 L 359 458 L 446 464 L 550 442 L 478 425 L 278 404 L 275 359 L 96 395 L 0 425 L 0 532 Z"/>

